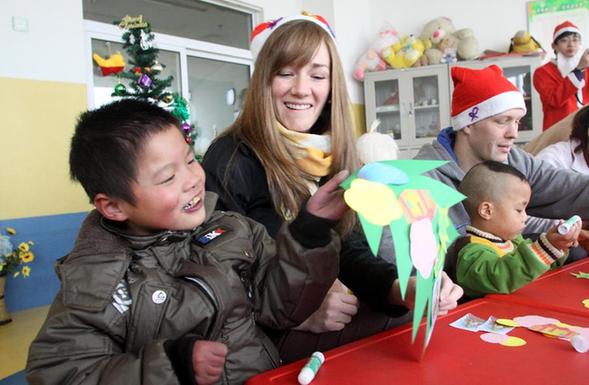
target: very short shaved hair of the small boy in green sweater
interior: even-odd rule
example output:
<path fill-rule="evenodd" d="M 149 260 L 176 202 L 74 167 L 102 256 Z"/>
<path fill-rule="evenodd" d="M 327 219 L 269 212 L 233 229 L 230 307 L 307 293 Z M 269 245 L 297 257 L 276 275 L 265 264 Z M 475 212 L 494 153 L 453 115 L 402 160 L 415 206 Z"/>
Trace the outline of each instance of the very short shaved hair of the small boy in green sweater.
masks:
<path fill-rule="evenodd" d="M 526 176 L 516 168 L 494 160 L 479 163 L 466 173 L 458 191 L 466 195 L 463 204 L 468 215 L 472 217 L 481 202 L 497 201 L 505 194 L 505 180 L 501 178 L 505 175 L 529 183 Z"/>

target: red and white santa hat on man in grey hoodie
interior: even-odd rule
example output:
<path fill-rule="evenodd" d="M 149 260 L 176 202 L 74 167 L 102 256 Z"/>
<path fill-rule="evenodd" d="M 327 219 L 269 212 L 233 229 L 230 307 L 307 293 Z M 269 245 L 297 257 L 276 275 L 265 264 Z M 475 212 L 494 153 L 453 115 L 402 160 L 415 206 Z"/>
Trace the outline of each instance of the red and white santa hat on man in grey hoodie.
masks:
<path fill-rule="evenodd" d="M 513 108 L 526 112 L 522 93 L 496 65 L 483 69 L 452 67 L 452 127 L 463 129 Z"/>

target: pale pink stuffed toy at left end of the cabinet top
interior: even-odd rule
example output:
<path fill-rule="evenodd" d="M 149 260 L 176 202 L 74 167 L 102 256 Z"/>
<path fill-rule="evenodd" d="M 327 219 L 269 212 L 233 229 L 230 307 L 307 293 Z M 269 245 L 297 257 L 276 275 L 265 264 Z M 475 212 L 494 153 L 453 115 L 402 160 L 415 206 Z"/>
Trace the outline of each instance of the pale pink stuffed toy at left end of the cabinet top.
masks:
<path fill-rule="evenodd" d="M 354 79 L 362 81 L 366 72 L 386 69 L 384 58 L 394 55 L 392 47 L 399 41 L 398 35 L 390 24 L 385 23 L 368 50 L 358 58 L 354 67 Z"/>

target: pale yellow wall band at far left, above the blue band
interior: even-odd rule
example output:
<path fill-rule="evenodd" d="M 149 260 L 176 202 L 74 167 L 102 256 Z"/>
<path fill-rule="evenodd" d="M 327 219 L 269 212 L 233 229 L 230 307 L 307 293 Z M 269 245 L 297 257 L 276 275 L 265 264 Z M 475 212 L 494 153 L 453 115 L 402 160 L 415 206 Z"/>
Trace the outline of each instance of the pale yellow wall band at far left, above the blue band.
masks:
<path fill-rule="evenodd" d="M 0 77 L 0 219 L 90 209 L 68 167 L 86 108 L 84 84 Z"/>

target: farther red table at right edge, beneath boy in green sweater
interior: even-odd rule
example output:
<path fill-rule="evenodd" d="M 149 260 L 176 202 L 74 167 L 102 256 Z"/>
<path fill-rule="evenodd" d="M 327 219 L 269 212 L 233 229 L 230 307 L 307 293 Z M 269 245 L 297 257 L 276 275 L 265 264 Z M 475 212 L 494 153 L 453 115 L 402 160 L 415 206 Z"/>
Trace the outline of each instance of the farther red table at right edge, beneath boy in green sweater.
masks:
<path fill-rule="evenodd" d="M 589 279 L 571 274 L 579 271 L 589 273 L 589 258 L 549 271 L 512 294 L 489 294 L 487 298 L 589 317 L 589 308 L 582 303 L 584 299 L 589 299 Z"/>

